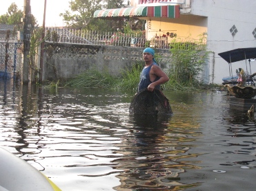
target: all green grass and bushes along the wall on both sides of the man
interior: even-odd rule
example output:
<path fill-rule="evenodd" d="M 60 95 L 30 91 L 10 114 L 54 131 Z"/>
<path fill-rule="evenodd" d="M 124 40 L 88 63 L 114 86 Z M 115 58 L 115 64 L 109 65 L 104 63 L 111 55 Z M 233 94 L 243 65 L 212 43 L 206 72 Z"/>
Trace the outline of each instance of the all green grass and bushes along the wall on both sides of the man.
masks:
<path fill-rule="evenodd" d="M 205 36 L 201 36 L 197 41 L 189 38 L 186 41 L 181 41 L 175 38 L 171 46 L 171 67 L 166 71 L 170 80 L 162 87 L 166 90 L 179 91 L 195 91 L 209 88 L 199 78 L 209 54 L 206 51 Z M 158 59 L 159 55 L 155 55 L 155 58 Z M 132 67 L 124 69 L 119 77 L 111 76 L 108 72 L 90 69 L 67 82 L 66 87 L 75 89 L 89 87 L 136 89 L 143 67 L 144 62 L 133 63 Z"/>

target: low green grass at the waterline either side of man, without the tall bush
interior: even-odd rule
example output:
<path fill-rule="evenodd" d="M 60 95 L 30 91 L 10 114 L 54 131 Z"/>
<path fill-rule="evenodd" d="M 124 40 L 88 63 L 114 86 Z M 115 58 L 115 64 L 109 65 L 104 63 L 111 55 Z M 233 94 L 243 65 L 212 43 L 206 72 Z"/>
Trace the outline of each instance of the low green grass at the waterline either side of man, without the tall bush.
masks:
<path fill-rule="evenodd" d="M 98 71 L 97 69 L 89 69 L 66 82 L 65 87 L 71 87 L 77 90 L 86 88 L 136 90 L 139 83 L 139 75 L 143 66 L 143 63 L 132 64 L 130 69 L 127 68 L 124 69 L 124 71 L 121 71 L 121 76 L 119 77 L 112 76 L 108 72 Z M 180 81 L 176 79 L 176 74 L 168 74 L 168 76 L 170 80 L 164 85 L 161 85 L 162 89 L 172 91 L 199 91 L 213 89 L 211 85 L 204 85 L 197 80 Z M 50 87 L 52 87 L 52 85 Z"/>

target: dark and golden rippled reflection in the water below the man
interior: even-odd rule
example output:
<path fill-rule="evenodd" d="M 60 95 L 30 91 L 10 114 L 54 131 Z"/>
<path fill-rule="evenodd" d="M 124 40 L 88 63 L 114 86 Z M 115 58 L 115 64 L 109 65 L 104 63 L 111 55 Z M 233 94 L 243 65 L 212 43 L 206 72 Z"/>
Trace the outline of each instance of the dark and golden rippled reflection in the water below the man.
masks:
<path fill-rule="evenodd" d="M 187 165 L 178 161 L 182 158 L 179 154 L 189 148 L 170 141 L 173 137 L 168 129 L 170 120 L 166 115 L 132 116 L 135 126 L 121 147 L 121 153 L 127 157 L 115 160 L 116 168 L 124 171 L 117 175 L 121 186 L 115 190 L 179 190 L 197 186 L 197 183 L 181 183 L 179 173 L 185 172 Z"/>

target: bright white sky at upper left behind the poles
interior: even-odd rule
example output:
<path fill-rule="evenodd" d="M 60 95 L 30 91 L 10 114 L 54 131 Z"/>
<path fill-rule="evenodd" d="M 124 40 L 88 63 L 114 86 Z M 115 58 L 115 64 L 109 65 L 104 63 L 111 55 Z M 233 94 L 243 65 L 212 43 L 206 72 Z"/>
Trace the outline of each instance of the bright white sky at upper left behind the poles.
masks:
<path fill-rule="evenodd" d="M 31 12 L 36 17 L 39 26 L 43 25 L 43 10 L 45 0 L 30 0 Z M 70 0 L 46 0 L 46 27 L 63 26 L 63 19 L 60 13 L 69 9 Z M 0 15 L 6 14 L 12 3 L 16 3 L 23 11 L 24 0 L 0 0 Z"/>

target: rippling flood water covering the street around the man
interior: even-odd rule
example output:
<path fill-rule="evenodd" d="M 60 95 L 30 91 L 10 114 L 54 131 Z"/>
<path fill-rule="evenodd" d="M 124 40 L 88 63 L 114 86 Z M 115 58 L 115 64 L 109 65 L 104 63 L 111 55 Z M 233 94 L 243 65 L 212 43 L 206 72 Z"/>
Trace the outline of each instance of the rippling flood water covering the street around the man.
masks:
<path fill-rule="evenodd" d="M 255 190 L 255 120 L 226 92 L 164 91 L 157 118 L 129 115 L 134 93 L 0 82 L 0 146 L 61 190 Z"/>

